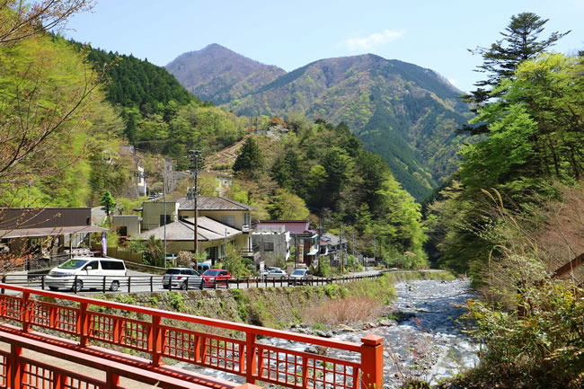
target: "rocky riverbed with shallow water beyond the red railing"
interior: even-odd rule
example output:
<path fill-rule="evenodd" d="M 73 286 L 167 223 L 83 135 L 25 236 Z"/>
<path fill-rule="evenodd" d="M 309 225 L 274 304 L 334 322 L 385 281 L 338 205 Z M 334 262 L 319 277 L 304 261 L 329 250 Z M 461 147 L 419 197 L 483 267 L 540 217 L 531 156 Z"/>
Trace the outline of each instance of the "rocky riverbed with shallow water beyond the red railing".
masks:
<path fill-rule="evenodd" d="M 408 281 L 395 285 L 398 298 L 391 314 L 376 323 L 341 325 L 330 331 L 314 330 L 296 325 L 291 330 L 323 337 L 360 342 L 367 333 L 384 338 L 385 388 L 397 388 L 403 376 L 414 377 L 430 385 L 454 376 L 477 362 L 478 345 L 473 343 L 456 319 L 465 312 L 462 306 L 472 297 L 468 282 Z M 288 340 L 262 339 L 261 343 L 284 349 L 322 353 L 329 357 L 355 358 L 349 354 L 335 354 L 331 349 L 306 347 Z M 182 366 L 217 376 L 217 370 Z M 242 382 L 242 377 L 220 374 L 222 378 Z"/>

